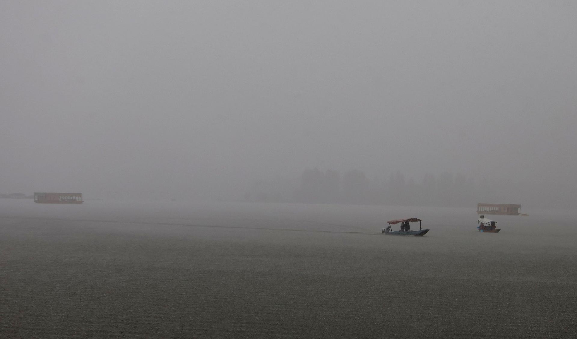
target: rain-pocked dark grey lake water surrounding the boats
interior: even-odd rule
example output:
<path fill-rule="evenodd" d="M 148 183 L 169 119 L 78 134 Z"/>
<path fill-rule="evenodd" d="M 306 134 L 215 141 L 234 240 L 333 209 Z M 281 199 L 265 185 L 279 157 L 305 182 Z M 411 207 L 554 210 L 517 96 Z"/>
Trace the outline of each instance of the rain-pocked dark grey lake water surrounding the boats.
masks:
<path fill-rule="evenodd" d="M 575 216 L 523 212 L 0 199 L 0 337 L 575 337 Z"/>

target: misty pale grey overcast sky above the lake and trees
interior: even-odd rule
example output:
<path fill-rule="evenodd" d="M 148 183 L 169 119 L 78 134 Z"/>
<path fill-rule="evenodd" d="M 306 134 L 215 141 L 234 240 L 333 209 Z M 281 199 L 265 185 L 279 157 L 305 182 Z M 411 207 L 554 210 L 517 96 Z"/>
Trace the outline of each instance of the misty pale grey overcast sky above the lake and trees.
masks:
<path fill-rule="evenodd" d="M 575 18 L 574 1 L 2 1 L 0 193 L 212 195 L 313 167 L 575 186 Z"/>

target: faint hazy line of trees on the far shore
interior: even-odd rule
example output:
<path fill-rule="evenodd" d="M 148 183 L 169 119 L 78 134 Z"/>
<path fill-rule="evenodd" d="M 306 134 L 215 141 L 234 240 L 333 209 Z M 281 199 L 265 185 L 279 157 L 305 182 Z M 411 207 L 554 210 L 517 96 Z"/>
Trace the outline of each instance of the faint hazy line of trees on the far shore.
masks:
<path fill-rule="evenodd" d="M 370 204 L 413 206 L 476 206 L 478 202 L 520 204 L 507 194 L 506 183 L 475 180 L 444 172 L 425 174 L 419 180 L 396 171 L 388 179 L 368 178 L 359 170 L 302 172 L 298 179 L 260 180 L 244 195 L 245 201 L 305 204 Z"/>

